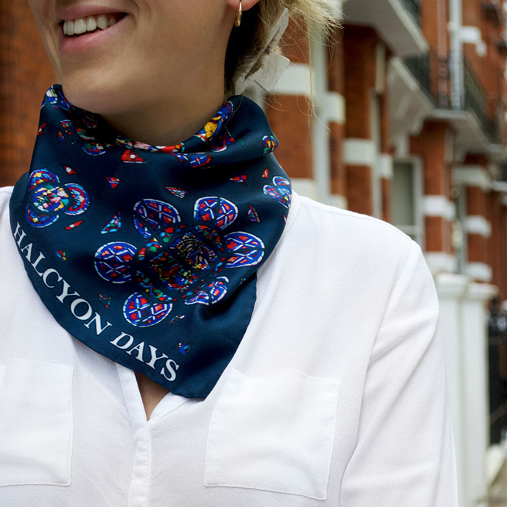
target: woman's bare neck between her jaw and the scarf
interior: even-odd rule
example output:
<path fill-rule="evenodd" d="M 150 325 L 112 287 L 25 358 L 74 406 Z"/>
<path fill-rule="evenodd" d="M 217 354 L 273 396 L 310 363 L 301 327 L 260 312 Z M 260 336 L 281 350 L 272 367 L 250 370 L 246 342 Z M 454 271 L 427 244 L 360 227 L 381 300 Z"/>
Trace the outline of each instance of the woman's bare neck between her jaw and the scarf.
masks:
<path fill-rule="evenodd" d="M 205 82 L 205 81 L 203 81 Z M 134 141 L 172 146 L 199 131 L 225 102 L 223 81 L 218 86 L 183 92 L 153 102 L 141 103 L 137 110 L 101 115 L 105 122 Z"/>

